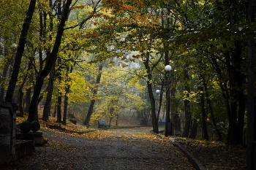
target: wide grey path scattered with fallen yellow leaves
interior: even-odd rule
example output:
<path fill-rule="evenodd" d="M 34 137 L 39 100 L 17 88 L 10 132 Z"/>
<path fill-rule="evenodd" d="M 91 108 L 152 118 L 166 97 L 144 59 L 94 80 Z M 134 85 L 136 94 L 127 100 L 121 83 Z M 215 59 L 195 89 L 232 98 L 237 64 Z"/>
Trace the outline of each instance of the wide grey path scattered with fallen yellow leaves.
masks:
<path fill-rule="evenodd" d="M 194 169 L 173 144 L 150 128 L 101 130 L 114 134 L 105 139 L 85 139 L 41 129 L 48 143 L 3 169 Z"/>

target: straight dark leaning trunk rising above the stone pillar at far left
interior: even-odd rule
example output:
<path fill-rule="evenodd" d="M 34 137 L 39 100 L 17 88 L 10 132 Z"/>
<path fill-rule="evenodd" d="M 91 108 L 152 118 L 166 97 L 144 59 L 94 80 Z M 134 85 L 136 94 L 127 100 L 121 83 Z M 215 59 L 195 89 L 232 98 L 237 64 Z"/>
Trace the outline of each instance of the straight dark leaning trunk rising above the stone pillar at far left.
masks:
<path fill-rule="evenodd" d="M 18 43 L 18 48 L 17 48 L 17 52 L 15 55 L 15 63 L 13 65 L 13 70 L 12 70 L 12 76 L 7 88 L 7 94 L 5 96 L 5 101 L 7 102 L 12 102 L 12 96 L 15 90 L 15 85 L 16 82 L 18 80 L 18 74 L 20 71 L 20 63 L 21 63 L 21 58 L 24 52 L 24 47 L 26 45 L 26 37 L 27 34 L 29 32 L 29 26 L 34 14 L 34 9 L 36 7 L 36 0 L 31 0 L 30 4 L 29 4 L 29 9 L 26 12 L 26 18 L 24 20 L 23 23 L 23 28 L 21 30 L 21 34 L 20 34 L 20 39 L 19 39 L 19 43 Z"/>

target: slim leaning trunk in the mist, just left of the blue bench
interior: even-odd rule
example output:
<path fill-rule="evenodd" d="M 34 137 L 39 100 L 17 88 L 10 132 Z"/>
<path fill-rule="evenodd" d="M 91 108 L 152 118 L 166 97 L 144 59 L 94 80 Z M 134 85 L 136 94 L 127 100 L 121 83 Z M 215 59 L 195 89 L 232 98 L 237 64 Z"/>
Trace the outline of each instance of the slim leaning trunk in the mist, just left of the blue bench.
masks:
<path fill-rule="evenodd" d="M 88 128 L 89 128 L 89 125 L 90 125 L 89 122 L 91 120 L 91 115 L 92 115 L 92 112 L 94 110 L 95 97 L 97 96 L 100 78 L 102 76 L 102 68 L 103 68 L 103 65 L 102 64 L 99 65 L 99 72 L 98 72 L 97 79 L 96 79 L 96 86 L 93 90 L 93 96 L 92 96 L 92 99 L 91 99 L 91 104 L 90 104 L 89 110 L 88 110 L 87 115 L 86 115 L 86 120 L 83 123 L 83 125 L 86 125 Z"/>

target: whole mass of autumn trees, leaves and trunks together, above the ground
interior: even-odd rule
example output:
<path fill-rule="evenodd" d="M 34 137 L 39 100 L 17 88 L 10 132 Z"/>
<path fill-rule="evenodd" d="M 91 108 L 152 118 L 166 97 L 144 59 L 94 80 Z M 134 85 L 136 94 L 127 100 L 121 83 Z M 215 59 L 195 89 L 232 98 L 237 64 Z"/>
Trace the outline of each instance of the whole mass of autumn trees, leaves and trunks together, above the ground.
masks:
<path fill-rule="evenodd" d="M 118 115 L 133 109 L 149 112 L 157 133 L 170 90 L 173 134 L 195 138 L 202 129 L 202 139 L 244 144 L 246 37 L 255 24 L 246 20 L 242 1 L 0 4 L 0 97 L 12 102 L 21 96 L 20 112 L 26 104 L 29 121 L 38 119 L 39 104 L 48 112 L 57 108 L 65 123 L 67 112 L 88 110 L 94 101 L 91 121 L 117 123 Z"/>

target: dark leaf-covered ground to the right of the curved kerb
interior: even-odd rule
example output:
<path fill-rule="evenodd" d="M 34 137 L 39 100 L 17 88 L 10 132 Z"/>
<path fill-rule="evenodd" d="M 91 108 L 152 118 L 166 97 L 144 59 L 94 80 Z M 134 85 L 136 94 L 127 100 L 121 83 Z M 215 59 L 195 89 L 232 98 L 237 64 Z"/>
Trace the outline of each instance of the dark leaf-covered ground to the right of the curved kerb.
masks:
<path fill-rule="evenodd" d="M 173 138 L 172 141 L 181 144 L 206 169 L 246 169 L 246 148 L 241 145 L 227 145 L 184 138 Z"/>

